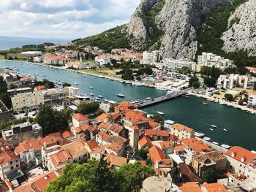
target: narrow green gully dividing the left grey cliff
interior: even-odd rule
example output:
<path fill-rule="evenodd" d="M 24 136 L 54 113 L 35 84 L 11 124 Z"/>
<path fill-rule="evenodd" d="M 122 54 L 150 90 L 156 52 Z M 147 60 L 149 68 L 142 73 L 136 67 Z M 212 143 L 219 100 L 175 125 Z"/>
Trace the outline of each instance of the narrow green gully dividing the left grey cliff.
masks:
<path fill-rule="evenodd" d="M 154 7 L 152 7 L 147 12 L 145 12 L 143 15 L 140 15 L 141 18 L 143 18 L 146 26 L 151 27 L 151 30 L 152 30 L 151 41 L 148 42 L 148 46 L 147 46 L 147 49 L 149 50 L 159 50 L 161 46 L 160 39 L 165 33 L 157 26 L 157 24 L 155 23 L 155 20 L 156 20 L 157 14 L 162 10 L 164 5 L 165 5 L 165 0 L 161 0 L 157 4 L 155 4 Z"/>

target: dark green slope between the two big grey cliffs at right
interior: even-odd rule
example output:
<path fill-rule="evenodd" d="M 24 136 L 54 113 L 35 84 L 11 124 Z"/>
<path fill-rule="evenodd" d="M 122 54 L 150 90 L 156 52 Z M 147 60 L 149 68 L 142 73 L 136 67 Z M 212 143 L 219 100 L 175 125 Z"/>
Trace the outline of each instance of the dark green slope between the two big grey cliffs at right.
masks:
<path fill-rule="evenodd" d="M 244 66 L 253 66 L 256 64 L 256 57 L 249 56 L 246 50 L 239 50 L 235 53 L 225 53 L 225 51 L 222 50 L 224 42 L 221 37 L 223 32 L 227 31 L 229 27 L 228 19 L 230 15 L 244 2 L 246 2 L 246 0 L 237 0 L 233 2 L 233 4 L 217 6 L 211 12 L 203 15 L 201 18 L 202 26 L 197 34 L 197 41 L 199 42 L 197 55 L 201 55 L 203 52 L 209 52 L 229 58 L 234 61 L 234 64 L 238 67 L 237 71 L 241 74 L 246 73 Z M 238 22 L 238 19 L 232 20 L 230 26 Z"/>

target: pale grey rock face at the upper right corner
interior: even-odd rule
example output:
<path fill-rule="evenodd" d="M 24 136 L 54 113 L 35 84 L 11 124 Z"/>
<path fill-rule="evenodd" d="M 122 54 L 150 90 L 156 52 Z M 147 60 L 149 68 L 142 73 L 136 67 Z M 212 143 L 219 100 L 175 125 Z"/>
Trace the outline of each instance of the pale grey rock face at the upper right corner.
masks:
<path fill-rule="evenodd" d="M 236 21 L 236 22 L 235 22 Z M 232 25 L 233 23 L 233 25 Z M 241 4 L 230 16 L 229 29 L 222 36 L 225 52 L 247 50 L 256 55 L 256 1 Z"/>

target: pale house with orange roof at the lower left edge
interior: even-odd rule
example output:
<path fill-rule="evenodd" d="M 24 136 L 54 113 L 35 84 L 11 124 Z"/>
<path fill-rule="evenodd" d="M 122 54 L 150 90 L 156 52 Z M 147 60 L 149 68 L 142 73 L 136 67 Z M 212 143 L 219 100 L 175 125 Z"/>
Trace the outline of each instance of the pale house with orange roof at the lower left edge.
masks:
<path fill-rule="evenodd" d="M 14 152 L 10 150 L 1 151 L 0 152 L 0 179 L 9 180 L 10 182 L 12 182 L 13 178 L 10 178 L 10 175 L 14 172 L 21 172 L 20 158 L 18 157 L 18 155 L 16 155 Z"/>

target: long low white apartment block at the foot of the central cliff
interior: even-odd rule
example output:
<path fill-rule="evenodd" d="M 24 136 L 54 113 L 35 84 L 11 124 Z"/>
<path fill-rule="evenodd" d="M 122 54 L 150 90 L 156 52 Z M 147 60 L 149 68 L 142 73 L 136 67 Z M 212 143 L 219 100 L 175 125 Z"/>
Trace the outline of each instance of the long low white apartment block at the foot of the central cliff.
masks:
<path fill-rule="evenodd" d="M 175 60 L 173 58 L 163 58 L 162 60 L 162 69 L 172 69 L 172 70 L 179 70 L 183 66 L 187 66 L 192 68 L 195 62 L 188 61 L 188 60 Z"/>

